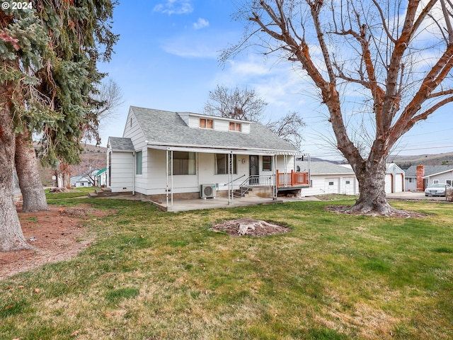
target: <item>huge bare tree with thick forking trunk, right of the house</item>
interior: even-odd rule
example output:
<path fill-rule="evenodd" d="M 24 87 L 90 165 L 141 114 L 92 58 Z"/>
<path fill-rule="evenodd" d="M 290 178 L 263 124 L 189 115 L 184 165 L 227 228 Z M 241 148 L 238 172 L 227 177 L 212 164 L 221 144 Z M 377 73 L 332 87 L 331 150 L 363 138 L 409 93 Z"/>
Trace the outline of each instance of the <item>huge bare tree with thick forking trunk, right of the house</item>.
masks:
<path fill-rule="evenodd" d="M 391 148 L 415 123 L 453 101 L 452 13 L 450 0 L 248 1 L 239 12 L 248 22 L 244 39 L 221 59 L 255 44 L 299 65 L 316 86 L 336 147 L 359 181 L 351 210 L 388 214 L 394 211 L 384 190 Z M 361 104 L 360 119 L 351 113 L 351 97 L 355 108 Z M 367 133 L 360 134 L 356 123 L 363 118 Z M 354 134 L 372 139 L 352 140 Z"/>

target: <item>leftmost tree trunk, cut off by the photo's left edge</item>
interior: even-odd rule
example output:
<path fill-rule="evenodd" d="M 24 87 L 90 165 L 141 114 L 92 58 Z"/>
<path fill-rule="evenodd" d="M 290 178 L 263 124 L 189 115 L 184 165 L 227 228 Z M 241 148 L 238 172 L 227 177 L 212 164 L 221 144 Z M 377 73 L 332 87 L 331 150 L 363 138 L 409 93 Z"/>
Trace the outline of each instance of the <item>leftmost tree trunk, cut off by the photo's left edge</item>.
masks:
<path fill-rule="evenodd" d="M 0 98 L 3 91 L 0 91 Z M 0 108 L 0 251 L 32 248 L 23 237 L 13 202 L 15 137 L 7 104 Z"/>

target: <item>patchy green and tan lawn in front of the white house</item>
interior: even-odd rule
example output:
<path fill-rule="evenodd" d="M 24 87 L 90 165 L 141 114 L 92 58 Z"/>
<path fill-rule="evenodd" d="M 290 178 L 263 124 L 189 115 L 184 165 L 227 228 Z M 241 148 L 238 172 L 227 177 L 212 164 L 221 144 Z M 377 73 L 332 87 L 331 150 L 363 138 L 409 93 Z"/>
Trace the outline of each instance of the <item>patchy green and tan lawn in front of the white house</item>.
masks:
<path fill-rule="evenodd" d="M 396 220 L 332 202 L 64 203 L 77 202 L 117 215 L 91 222 L 96 242 L 76 259 L 0 281 L 0 339 L 453 339 L 451 204 L 395 202 L 428 214 Z M 208 230 L 240 217 L 292 232 Z"/>

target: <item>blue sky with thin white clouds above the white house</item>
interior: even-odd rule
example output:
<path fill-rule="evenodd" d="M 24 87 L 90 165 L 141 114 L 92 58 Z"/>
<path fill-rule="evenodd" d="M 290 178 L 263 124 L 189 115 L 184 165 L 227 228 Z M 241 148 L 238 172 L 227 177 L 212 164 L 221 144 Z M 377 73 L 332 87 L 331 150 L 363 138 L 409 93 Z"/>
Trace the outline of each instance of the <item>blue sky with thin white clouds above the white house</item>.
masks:
<path fill-rule="evenodd" d="M 217 84 L 255 89 L 268 102 L 263 123 L 289 111 L 306 123 L 302 151 L 312 157 L 341 159 L 334 147 L 326 110 L 311 84 L 292 65 L 253 50 L 219 64 L 220 51 L 238 42 L 243 23 L 233 21 L 240 0 L 120 1 L 113 31 L 120 34 L 110 63 L 101 64 L 122 89 L 124 103 L 115 118 L 101 123 L 102 145 L 121 137 L 129 106 L 202 113 Z M 447 106 L 415 126 L 396 148 L 399 154 L 453 151 L 451 111 Z"/>

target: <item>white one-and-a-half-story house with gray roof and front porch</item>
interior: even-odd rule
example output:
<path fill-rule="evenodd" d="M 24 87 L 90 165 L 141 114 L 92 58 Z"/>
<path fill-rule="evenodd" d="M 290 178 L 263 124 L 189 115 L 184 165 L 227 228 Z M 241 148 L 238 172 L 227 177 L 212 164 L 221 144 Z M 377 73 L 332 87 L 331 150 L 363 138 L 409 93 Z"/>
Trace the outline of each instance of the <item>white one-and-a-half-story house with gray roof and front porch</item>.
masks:
<path fill-rule="evenodd" d="M 173 195 L 232 200 L 235 190 L 260 186 L 276 198 L 309 183 L 308 173 L 294 172 L 301 152 L 243 120 L 131 106 L 122 137 L 109 137 L 107 147 L 108 188 L 166 199 L 167 207 Z"/>

